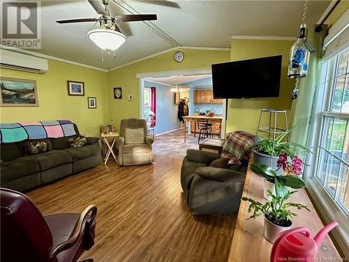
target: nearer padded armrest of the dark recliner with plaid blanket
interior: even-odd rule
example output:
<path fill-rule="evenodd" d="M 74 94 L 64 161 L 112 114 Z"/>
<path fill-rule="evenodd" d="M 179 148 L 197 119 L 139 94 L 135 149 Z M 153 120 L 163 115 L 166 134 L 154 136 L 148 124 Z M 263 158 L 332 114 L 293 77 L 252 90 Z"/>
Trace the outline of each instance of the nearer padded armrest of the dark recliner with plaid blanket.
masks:
<path fill-rule="evenodd" d="M 214 168 L 211 166 L 204 166 L 196 169 L 196 173 L 200 177 L 208 180 L 216 180 L 219 182 L 242 182 L 245 180 L 245 174 L 237 170 Z"/>

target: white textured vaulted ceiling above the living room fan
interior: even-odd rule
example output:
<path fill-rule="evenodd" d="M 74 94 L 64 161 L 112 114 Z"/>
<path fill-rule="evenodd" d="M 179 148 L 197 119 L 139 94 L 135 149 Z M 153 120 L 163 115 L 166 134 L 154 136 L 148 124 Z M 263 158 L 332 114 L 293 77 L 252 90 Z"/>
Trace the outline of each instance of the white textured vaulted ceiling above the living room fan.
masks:
<path fill-rule="evenodd" d="M 303 1 L 176 1 L 178 8 L 156 1 L 124 1 L 139 13 L 156 13 L 154 24 L 180 45 L 209 48 L 230 48 L 232 35 L 297 36 L 303 13 Z M 317 22 L 328 5 L 329 1 L 308 1 L 306 22 Z M 112 14 L 128 13 L 112 1 L 109 6 Z M 87 0 L 42 1 L 42 49 L 34 52 L 110 69 L 174 48 L 143 22 L 129 22 L 126 31 L 133 35 L 117 50 L 116 59 L 105 55 L 102 62 L 101 50 L 87 38 L 93 22 L 54 22 L 82 17 L 98 17 Z"/>

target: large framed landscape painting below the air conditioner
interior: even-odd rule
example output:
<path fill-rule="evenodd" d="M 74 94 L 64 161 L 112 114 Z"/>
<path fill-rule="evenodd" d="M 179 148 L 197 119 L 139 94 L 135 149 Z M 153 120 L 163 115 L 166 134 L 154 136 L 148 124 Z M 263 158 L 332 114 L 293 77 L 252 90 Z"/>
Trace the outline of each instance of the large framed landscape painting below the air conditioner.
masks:
<path fill-rule="evenodd" d="M 36 80 L 0 78 L 1 106 L 39 106 Z"/>

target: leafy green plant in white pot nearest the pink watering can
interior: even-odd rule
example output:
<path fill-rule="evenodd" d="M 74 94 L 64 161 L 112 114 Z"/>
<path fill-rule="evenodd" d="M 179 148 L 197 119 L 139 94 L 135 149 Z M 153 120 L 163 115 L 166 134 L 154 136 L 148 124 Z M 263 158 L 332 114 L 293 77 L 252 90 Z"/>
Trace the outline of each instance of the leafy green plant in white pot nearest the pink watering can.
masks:
<path fill-rule="evenodd" d="M 264 215 L 264 236 L 269 242 L 274 242 L 277 235 L 281 231 L 285 231 L 292 227 L 291 218 L 296 216 L 294 212 L 290 211 L 288 208 L 295 207 L 298 210 L 305 208 L 309 210 L 305 205 L 286 202 L 292 194 L 295 194 L 297 191 L 288 190 L 283 196 L 276 196 L 272 194 L 272 191 L 268 191 L 271 200 L 267 203 L 262 204 L 258 201 L 253 200 L 252 198 L 243 197 L 242 201 L 248 201 L 251 204 L 248 206 L 248 212 L 253 210 L 253 214 L 248 219 L 256 218 L 261 214 Z"/>

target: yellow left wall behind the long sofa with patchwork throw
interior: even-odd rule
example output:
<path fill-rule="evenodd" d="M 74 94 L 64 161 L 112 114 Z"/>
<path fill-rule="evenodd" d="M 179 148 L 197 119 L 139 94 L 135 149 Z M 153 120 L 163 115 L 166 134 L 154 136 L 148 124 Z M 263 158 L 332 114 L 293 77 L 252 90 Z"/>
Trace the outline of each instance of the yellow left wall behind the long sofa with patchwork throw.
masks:
<path fill-rule="evenodd" d="M 107 73 L 49 60 L 45 74 L 0 68 L 1 77 L 36 80 L 38 107 L 1 107 L 0 122 L 69 119 L 87 136 L 100 136 L 107 123 Z M 84 82 L 84 96 L 68 96 L 67 80 Z M 97 108 L 87 108 L 87 96 L 96 96 Z"/>

